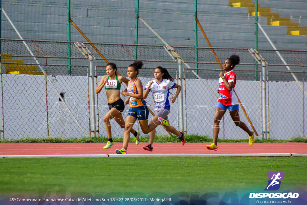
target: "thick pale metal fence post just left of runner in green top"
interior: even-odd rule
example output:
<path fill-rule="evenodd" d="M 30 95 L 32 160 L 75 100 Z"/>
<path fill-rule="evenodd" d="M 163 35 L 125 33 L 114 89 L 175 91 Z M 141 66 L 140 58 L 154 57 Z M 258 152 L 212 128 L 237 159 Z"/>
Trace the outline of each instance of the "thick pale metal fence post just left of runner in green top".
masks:
<path fill-rule="evenodd" d="M 93 69 L 93 56 L 88 55 L 88 58 L 90 60 L 90 83 L 91 83 L 91 124 L 92 124 L 92 132 L 93 136 L 96 136 L 96 112 L 95 112 L 95 93 L 94 93 L 94 69 Z"/>

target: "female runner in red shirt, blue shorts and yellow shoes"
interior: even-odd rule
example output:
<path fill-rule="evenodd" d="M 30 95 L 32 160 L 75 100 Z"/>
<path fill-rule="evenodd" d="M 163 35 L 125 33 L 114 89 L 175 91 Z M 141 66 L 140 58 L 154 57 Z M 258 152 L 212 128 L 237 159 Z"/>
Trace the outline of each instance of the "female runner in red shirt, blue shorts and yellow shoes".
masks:
<path fill-rule="evenodd" d="M 235 95 L 235 83 L 237 77 L 235 72 L 233 72 L 235 65 L 239 64 L 239 62 L 239 56 L 231 55 L 231 57 L 227 58 L 224 62 L 223 69 L 225 70 L 225 73 L 221 72 L 219 75 L 219 89 L 217 90 L 219 93 L 219 99 L 216 103 L 214 114 L 213 143 L 207 145 L 207 149 L 217 150 L 217 138 L 220 132 L 220 121 L 227 111 L 227 108 L 235 125 L 243 129 L 249 135 L 249 144 L 253 145 L 255 142 L 254 131 L 250 131 L 246 124 L 240 121 L 239 101 Z"/>

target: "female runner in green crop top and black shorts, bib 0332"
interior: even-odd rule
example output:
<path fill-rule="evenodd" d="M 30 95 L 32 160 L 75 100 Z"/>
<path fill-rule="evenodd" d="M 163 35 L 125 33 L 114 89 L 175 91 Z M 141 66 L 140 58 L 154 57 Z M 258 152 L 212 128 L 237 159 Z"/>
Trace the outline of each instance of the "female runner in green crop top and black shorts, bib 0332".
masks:
<path fill-rule="evenodd" d="M 122 111 L 125 109 L 125 104 L 120 98 L 119 93 L 122 82 L 128 83 L 129 80 L 124 76 L 118 76 L 116 70 L 117 67 L 114 63 L 108 63 L 106 70 L 107 75 L 102 77 L 96 89 L 96 94 L 98 94 L 103 89 L 103 86 L 105 87 L 109 106 L 109 111 L 103 117 L 103 122 L 106 125 L 108 134 L 108 142 L 107 145 L 104 146 L 104 149 L 108 149 L 113 145 L 110 120 L 114 118 L 121 128 L 125 128 L 125 121 L 122 118 Z M 138 144 L 140 132 L 132 129 L 131 133 L 134 134 L 135 144 Z"/>

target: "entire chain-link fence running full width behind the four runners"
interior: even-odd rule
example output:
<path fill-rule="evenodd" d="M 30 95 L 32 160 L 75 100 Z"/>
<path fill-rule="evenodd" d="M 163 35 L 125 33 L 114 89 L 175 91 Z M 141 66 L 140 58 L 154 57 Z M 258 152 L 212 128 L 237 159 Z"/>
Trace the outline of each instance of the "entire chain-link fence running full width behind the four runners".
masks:
<path fill-rule="evenodd" d="M 302 111 L 305 113 L 306 101 L 306 86 L 302 83 L 304 70 L 292 74 L 289 71 L 272 70 L 271 67 L 285 69 L 282 64 L 284 62 L 278 60 L 278 54 L 274 50 L 198 47 L 200 55 L 198 61 L 195 61 L 195 47 L 174 46 L 166 49 L 161 45 L 10 39 L 1 39 L 1 42 L 2 139 L 21 136 L 81 137 L 91 135 L 93 124 L 100 136 L 106 136 L 102 119 L 108 110 L 107 98 L 104 92 L 93 97 L 89 81 L 94 81 L 95 89 L 105 75 L 105 66 L 109 61 L 116 63 L 119 73 L 125 75 L 127 66 L 135 60 L 135 50 L 138 53 L 137 59 L 144 62 L 139 75 L 143 87 L 153 79 L 157 66 L 167 68 L 175 82 L 182 86 L 183 101 L 180 102 L 178 97 L 171 105 L 169 119 L 174 127 L 188 134 L 212 136 L 220 65 L 231 54 L 238 54 L 241 62 L 234 71 L 237 75 L 235 91 L 242 105 L 239 108 L 241 120 L 250 129 L 254 129 L 258 137 L 265 137 L 264 133 L 269 134 L 266 137 L 274 139 L 306 135 L 306 115 L 301 114 Z M 71 50 L 70 57 L 67 56 L 68 45 Z M 298 70 L 307 66 L 307 51 L 279 52 L 291 68 Z M 92 64 L 90 56 L 94 59 Z M 36 63 L 33 57 L 36 57 Z M 68 60 L 75 64 L 67 65 Z M 183 61 L 183 64 L 179 64 L 179 60 Z M 195 69 L 196 63 L 201 65 L 201 68 Z M 255 65 L 258 65 L 259 69 L 262 65 L 262 70 L 254 70 Z M 122 89 L 125 89 L 125 86 L 122 86 Z M 173 94 L 175 92 L 171 91 Z M 154 112 L 153 100 L 148 97 L 146 101 Z M 92 109 L 92 106 L 95 109 Z M 179 112 L 180 107 L 183 107 L 183 116 Z M 264 109 L 267 112 L 264 112 Z M 128 106 L 123 112 L 124 118 L 127 110 Z M 94 116 L 95 122 L 91 121 Z M 183 126 L 181 121 L 184 122 Z M 225 139 L 247 138 L 245 132 L 235 128 L 228 113 L 220 125 L 220 136 L 223 132 Z M 263 128 L 265 125 L 266 129 Z M 111 126 L 114 136 L 122 136 L 123 130 L 116 122 L 112 121 Z M 167 134 L 162 127 L 157 128 L 157 132 Z"/>

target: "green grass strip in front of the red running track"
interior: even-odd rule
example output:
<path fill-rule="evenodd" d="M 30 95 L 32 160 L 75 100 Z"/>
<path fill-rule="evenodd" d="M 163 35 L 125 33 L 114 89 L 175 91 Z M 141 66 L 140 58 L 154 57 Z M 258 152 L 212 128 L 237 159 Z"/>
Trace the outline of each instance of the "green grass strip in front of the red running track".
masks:
<path fill-rule="evenodd" d="M 303 157 L 11 158 L 0 160 L 0 193 L 31 194 L 45 184 L 68 192 L 199 192 L 265 188 L 267 171 L 285 187 L 307 187 Z"/>

